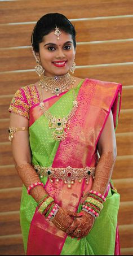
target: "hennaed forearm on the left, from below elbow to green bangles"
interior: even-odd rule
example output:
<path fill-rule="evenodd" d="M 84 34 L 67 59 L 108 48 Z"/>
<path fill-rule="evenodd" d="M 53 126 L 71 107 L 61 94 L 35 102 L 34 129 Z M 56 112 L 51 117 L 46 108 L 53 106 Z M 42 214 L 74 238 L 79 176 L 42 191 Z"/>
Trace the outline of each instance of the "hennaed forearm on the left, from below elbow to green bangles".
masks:
<path fill-rule="evenodd" d="M 17 165 L 15 163 L 16 170 L 19 174 L 20 179 L 23 181 L 23 184 L 28 188 L 30 185 L 41 181 L 38 174 L 34 170 L 32 164 L 22 163 Z M 30 190 L 30 195 L 39 202 L 42 197 L 46 194 L 45 188 L 43 186 L 35 186 Z"/>

